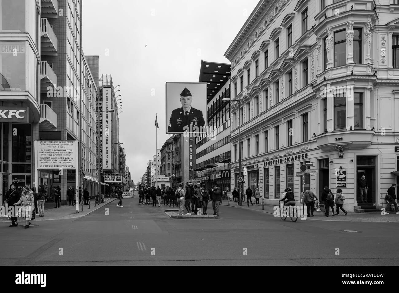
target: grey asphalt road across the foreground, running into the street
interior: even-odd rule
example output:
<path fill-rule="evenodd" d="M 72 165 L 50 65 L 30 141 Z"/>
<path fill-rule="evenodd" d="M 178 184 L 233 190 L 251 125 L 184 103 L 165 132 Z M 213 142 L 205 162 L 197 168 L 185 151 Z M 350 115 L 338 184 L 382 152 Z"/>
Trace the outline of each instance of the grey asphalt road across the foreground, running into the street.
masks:
<path fill-rule="evenodd" d="M 399 261 L 395 222 L 291 222 L 234 206 L 221 206 L 216 220 L 180 220 L 163 210 L 163 206 L 138 205 L 138 199 L 123 199 L 123 208 L 114 201 L 81 218 L 32 221 L 37 226 L 29 229 L 0 223 L 0 265 L 392 265 Z"/>

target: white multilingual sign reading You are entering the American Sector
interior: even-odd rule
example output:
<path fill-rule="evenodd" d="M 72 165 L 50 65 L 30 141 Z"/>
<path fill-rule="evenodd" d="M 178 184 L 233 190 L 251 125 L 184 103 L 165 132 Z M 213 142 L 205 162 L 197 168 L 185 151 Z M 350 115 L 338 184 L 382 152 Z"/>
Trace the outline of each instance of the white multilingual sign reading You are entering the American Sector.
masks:
<path fill-rule="evenodd" d="M 35 140 L 37 169 L 76 169 L 76 140 Z"/>

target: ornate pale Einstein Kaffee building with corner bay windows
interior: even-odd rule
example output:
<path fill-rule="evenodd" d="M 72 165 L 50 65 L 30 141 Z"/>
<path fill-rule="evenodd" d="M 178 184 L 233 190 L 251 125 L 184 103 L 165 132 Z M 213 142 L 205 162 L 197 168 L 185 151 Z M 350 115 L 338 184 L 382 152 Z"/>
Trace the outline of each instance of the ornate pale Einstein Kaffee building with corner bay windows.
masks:
<path fill-rule="evenodd" d="M 378 13 L 377 13 L 378 12 Z M 341 188 L 344 207 L 385 206 L 399 155 L 399 5 L 391 0 L 260 1 L 225 53 L 232 63 L 232 168 L 245 187 L 278 204 L 287 187 L 321 197 Z M 241 141 L 238 140 L 238 119 Z M 395 175 L 396 174 L 396 175 Z"/>

